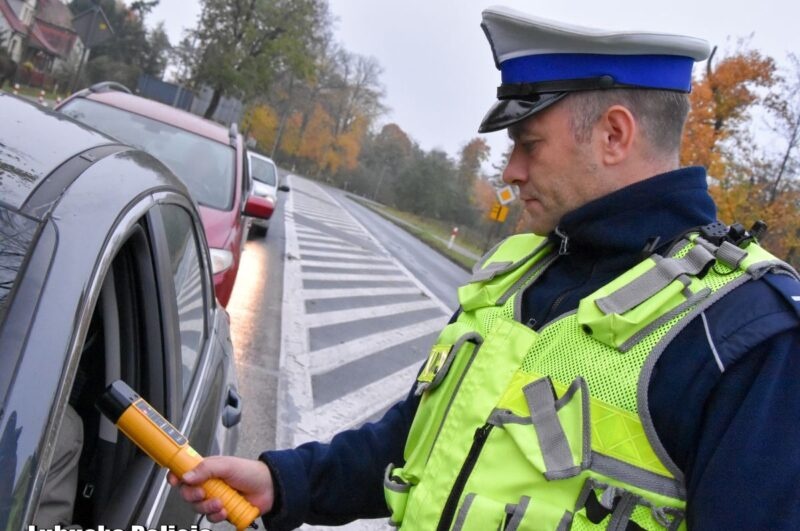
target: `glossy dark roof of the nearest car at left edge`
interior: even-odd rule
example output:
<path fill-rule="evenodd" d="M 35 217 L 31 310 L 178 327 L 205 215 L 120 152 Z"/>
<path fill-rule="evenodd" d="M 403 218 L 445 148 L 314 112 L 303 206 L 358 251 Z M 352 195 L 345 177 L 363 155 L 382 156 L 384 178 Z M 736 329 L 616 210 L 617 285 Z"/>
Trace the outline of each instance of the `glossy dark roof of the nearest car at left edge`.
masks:
<path fill-rule="evenodd" d="M 116 140 L 23 98 L 0 91 L 0 202 L 19 209 L 63 162 Z M 42 142 L 42 135 L 58 142 Z"/>

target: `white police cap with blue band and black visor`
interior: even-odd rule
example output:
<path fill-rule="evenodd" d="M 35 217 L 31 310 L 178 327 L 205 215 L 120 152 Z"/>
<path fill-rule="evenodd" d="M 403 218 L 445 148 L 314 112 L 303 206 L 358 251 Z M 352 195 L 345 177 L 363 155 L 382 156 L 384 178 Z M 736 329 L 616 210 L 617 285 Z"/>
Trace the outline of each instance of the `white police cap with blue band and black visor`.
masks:
<path fill-rule="evenodd" d="M 481 27 L 502 78 L 481 133 L 505 129 L 579 90 L 689 92 L 694 62 L 711 51 L 708 42 L 694 37 L 609 32 L 506 7 L 484 10 Z"/>

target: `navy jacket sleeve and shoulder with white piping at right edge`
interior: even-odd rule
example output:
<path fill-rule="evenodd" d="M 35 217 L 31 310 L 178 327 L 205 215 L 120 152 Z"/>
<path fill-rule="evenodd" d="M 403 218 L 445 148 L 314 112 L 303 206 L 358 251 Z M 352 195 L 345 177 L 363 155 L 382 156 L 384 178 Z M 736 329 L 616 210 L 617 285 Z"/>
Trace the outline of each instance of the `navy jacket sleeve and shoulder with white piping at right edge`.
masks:
<path fill-rule="evenodd" d="M 800 315 L 785 295 L 735 290 L 656 366 L 653 421 L 685 474 L 689 529 L 800 525 Z"/>

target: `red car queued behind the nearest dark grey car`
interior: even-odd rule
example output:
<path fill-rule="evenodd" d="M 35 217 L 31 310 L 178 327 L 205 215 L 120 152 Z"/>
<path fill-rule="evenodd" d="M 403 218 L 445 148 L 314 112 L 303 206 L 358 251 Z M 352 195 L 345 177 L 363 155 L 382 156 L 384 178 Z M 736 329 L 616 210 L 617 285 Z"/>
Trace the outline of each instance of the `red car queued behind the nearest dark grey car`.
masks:
<path fill-rule="evenodd" d="M 76 92 L 64 114 L 155 156 L 197 202 L 211 254 L 214 288 L 223 306 L 233 290 L 248 219 L 269 219 L 272 201 L 250 194 L 242 135 L 215 122 L 134 96 L 116 83 Z"/>

